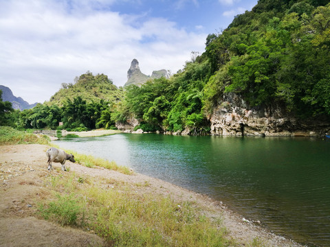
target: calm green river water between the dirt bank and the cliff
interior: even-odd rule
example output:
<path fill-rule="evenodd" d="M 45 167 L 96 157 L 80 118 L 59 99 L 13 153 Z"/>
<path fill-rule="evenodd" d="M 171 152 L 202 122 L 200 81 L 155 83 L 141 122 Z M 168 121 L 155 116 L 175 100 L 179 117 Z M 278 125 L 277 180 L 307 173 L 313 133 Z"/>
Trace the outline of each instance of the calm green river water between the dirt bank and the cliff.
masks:
<path fill-rule="evenodd" d="M 56 141 L 206 193 L 277 234 L 330 246 L 330 141 L 114 134 Z"/>

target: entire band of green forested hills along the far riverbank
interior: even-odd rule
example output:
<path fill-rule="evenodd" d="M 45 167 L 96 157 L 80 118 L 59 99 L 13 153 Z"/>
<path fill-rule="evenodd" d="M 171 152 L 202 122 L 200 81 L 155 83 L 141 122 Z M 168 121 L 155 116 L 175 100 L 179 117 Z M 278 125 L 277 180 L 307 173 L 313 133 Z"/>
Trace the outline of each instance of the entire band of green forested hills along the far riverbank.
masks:
<path fill-rule="evenodd" d="M 209 34 L 205 52 L 171 78 L 117 89 L 106 75 L 85 73 L 47 104 L 21 112 L 17 126 L 110 128 L 135 118 L 144 131 L 208 133 L 214 109 L 229 104 L 225 95 L 247 109 L 276 105 L 281 114 L 329 125 L 329 47 L 328 1 L 260 0 L 222 33 Z"/>

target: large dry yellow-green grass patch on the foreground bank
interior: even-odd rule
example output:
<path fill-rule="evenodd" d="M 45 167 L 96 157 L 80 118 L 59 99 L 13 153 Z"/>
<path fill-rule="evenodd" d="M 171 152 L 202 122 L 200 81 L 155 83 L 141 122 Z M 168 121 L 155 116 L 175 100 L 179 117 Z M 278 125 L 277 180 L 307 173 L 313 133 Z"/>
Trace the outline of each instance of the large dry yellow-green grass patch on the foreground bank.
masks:
<path fill-rule="evenodd" d="M 48 178 L 53 200 L 39 213 L 61 225 L 94 231 L 110 246 L 235 246 L 220 220 L 203 215 L 192 202 L 139 193 L 130 185 L 107 187 L 107 180 L 64 174 Z M 54 183 L 54 181 L 56 183 Z M 60 185 L 61 184 L 61 185 Z"/>

